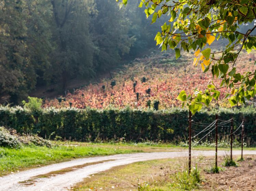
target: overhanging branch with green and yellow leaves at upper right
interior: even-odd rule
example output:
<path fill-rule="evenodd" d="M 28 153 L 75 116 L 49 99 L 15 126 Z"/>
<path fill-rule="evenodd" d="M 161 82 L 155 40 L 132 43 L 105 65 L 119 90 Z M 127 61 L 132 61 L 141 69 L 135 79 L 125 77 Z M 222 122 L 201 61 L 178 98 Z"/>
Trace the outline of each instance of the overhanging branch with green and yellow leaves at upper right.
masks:
<path fill-rule="evenodd" d="M 116 0 L 119 6 L 127 0 Z M 211 71 L 212 77 L 222 80 L 213 82 L 205 89 L 195 89 L 193 94 L 181 91 L 177 99 L 188 106 L 191 112 L 200 111 L 202 104 L 209 105 L 218 99 L 218 89 L 227 88 L 226 98 L 231 106 L 245 103 L 255 95 L 256 70 L 239 73 L 236 60 L 244 49 L 248 53 L 256 47 L 256 36 L 252 31 L 239 31 L 239 26 L 256 19 L 256 3 L 253 0 L 140 0 L 139 7 L 145 8 L 146 17 L 152 16 L 152 23 L 163 15 L 167 22 L 155 37 L 156 45 L 162 51 L 175 50 L 176 59 L 181 51 L 194 52 L 193 65 L 200 63 L 202 71 Z M 216 40 L 226 40 L 222 51 L 214 52 L 209 46 Z"/>

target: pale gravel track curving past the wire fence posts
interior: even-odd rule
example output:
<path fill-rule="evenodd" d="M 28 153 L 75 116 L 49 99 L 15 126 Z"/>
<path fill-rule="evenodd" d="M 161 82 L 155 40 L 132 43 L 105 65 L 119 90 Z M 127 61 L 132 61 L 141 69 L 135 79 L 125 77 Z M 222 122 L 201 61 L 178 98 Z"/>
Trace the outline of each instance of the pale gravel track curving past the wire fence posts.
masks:
<path fill-rule="evenodd" d="M 225 151 L 218 151 L 218 155 L 225 155 Z M 233 151 L 233 155 L 240 155 L 241 151 Z M 138 161 L 187 157 L 187 151 L 172 151 L 172 152 L 151 152 L 151 153 L 133 153 L 124 155 L 112 155 L 104 157 L 91 157 L 83 159 L 75 159 L 68 162 L 52 164 L 44 167 L 33 168 L 8 176 L 0 177 L 0 191 L 67 191 L 77 182 L 83 181 L 89 175 L 96 174 L 108 170 L 114 166 L 126 165 Z M 192 156 L 215 156 L 215 151 L 193 151 Z M 256 155 L 256 150 L 244 151 L 244 155 Z M 25 186 L 19 182 L 29 180 L 33 176 L 47 174 L 52 171 L 58 171 L 63 168 L 83 165 L 91 162 L 106 161 L 99 164 L 88 165 L 78 170 L 71 171 L 65 174 L 52 176 L 50 178 L 38 178 L 30 186 Z"/>

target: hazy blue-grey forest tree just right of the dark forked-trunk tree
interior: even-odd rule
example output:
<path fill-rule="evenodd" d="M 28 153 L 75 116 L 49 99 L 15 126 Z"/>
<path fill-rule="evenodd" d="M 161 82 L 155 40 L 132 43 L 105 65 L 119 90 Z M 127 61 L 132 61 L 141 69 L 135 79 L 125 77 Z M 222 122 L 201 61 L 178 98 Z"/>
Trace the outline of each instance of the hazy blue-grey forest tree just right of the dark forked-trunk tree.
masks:
<path fill-rule="evenodd" d="M 95 62 L 98 70 L 104 70 L 117 65 L 136 39 L 128 35 L 131 27 L 128 11 L 115 9 L 112 0 L 95 2 L 98 11 L 92 23 L 94 43 L 98 47 Z"/>

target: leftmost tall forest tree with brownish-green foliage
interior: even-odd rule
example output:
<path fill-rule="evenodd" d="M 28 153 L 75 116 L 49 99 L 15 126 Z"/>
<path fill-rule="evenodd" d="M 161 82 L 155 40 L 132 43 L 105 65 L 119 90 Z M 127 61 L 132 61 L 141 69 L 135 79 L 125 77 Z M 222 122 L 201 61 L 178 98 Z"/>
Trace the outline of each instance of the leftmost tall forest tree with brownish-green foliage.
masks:
<path fill-rule="evenodd" d="M 0 94 L 17 103 L 27 93 L 30 70 L 27 57 L 25 3 L 22 0 L 0 2 Z"/>

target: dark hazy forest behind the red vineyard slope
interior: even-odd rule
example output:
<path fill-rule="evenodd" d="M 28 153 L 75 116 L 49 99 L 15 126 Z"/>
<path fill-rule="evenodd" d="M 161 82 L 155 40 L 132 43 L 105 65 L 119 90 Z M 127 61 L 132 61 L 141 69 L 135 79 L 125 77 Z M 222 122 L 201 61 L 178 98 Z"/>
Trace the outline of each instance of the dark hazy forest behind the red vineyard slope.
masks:
<path fill-rule="evenodd" d="M 41 86 L 94 78 L 155 45 L 137 0 L 0 0 L 0 99 L 18 104 Z M 143 35 L 142 35 L 143 34 Z"/>

